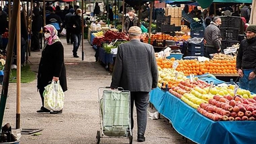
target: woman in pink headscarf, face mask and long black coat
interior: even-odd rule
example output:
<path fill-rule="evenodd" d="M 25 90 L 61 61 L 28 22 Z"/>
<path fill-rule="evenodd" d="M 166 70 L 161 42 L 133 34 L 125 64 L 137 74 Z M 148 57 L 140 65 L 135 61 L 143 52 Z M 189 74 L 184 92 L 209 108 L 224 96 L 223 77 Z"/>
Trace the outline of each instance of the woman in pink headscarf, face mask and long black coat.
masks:
<path fill-rule="evenodd" d="M 44 87 L 46 87 L 49 82 L 60 81 L 60 86 L 63 92 L 67 91 L 67 78 L 66 78 L 66 68 L 64 65 L 64 48 L 59 37 L 58 32 L 53 25 L 46 25 L 43 28 L 44 32 L 44 48 L 42 51 L 42 56 L 38 68 L 37 76 L 37 88 L 39 90 L 42 107 L 37 113 L 49 113 L 50 110 L 44 108 Z M 51 114 L 62 113 L 60 111 L 51 111 Z"/>

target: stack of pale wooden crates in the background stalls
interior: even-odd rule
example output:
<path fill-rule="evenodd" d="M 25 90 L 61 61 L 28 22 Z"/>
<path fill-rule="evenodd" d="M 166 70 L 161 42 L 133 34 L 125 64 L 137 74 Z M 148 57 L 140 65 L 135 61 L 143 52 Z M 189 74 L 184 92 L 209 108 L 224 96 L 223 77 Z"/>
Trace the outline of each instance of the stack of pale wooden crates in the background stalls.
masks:
<path fill-rule="evenodd" d="M 181 26 L 182 8 L 166 8 L 165 16 L 171 16 L 171 25 Z"/>

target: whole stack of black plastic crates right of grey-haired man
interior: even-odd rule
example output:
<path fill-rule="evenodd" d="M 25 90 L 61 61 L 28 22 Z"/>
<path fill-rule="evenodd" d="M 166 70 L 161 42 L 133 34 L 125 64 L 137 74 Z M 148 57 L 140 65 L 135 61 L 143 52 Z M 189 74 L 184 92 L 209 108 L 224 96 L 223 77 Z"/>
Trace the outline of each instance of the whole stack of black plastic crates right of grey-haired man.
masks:
<path fill-rule="evenodd" d="M 219 28 L 221 30 L 221 49 L 232 47 L 233 44 L 239 43 L 238 35 L 240 30 L 240 17 L 221 17 L 222 24 Z"/>

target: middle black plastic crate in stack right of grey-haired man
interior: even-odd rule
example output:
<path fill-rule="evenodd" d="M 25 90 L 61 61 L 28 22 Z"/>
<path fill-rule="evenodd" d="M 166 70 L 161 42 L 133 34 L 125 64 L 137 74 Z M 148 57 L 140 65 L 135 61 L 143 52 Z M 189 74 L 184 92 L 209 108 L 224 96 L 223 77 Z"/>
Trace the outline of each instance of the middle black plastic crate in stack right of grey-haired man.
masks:
<path fill-rule="evenodd" d="M 220 29 L 223 40 L 238 40 L 239 29 Z"/>

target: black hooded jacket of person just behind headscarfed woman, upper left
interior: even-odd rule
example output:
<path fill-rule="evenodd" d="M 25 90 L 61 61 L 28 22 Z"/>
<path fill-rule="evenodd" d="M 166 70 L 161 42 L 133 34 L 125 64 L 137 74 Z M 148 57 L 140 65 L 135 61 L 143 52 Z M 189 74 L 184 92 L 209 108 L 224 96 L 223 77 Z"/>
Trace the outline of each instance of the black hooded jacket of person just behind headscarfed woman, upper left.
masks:
<path fill-rule="evenodd" d="M 43 19 L 39 14 L 39 9 L 35 8 L 33 10 L 34 16 L 33 16 L 33 21 L 32 21 L 32 31 L 40 31 L 42 26 L 43 26 Z"/>

